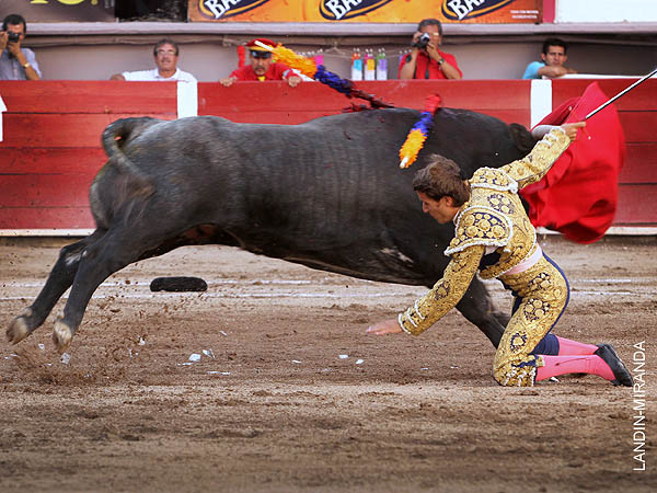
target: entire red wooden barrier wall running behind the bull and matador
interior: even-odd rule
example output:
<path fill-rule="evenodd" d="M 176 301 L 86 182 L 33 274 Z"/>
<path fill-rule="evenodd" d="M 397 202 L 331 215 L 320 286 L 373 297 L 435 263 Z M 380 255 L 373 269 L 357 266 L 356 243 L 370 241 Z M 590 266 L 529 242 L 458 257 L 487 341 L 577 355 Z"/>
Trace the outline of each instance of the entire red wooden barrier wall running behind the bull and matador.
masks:
<path fill-rule="evenodd" d="M 579 95 L 590 81 L 553 81 L 553 107 Z M 599 81 L 611 95 L 632 81 Z M 530 124 L 530 82 L 373 81 L 366 92 L 422 110 L 427 94 L 443 104 Z M 116 81 L 0 81 L 8 111 L 0 142 L 0 233 L 62 234 L 93 229 L 88 191 L 104 164 L 101 134 L 126 116 L 172 119 L 175 83 Z M 616 107 L 627 140 L 616 225 L 657 226 L 657 81 L 647 81 Z M 362 101 L 354 101 L 359 104 Z M 291 89 L 285 82 L 242 82 L 231 88 L 198 84 L 198 114 L 234 122 L 298 124 L 339 113 L 351 100 L 320 83 Z"/>

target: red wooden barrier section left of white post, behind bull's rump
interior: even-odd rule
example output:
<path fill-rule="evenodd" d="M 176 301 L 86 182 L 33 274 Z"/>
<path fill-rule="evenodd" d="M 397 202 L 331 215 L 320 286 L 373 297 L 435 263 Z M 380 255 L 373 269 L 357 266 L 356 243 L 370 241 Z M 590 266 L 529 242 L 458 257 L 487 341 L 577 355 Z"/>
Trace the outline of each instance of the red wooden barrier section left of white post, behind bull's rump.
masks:
<path fill-rule="evenodd" d="M 176 117 L 175 83 L 0 81 L 0 230 L 93 229 L 101 134 L 128 116 Z"/>

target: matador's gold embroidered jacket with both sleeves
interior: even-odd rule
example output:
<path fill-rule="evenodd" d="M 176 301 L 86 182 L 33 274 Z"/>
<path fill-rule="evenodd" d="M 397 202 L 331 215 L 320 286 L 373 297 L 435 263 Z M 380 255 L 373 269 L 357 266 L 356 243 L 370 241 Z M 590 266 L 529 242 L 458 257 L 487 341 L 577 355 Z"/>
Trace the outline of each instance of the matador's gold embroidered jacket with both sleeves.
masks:
<path fill-rule="evenodd" d="M 566 133 L 556 127 L 523 159 L 499 169 L 481 168 L 474 173 L 470 180 L 470 199 L 454 217 L 456 234 L 445 251 L 451 261 L 431 290 L 399 314 L 404 332 L 419 335 L 451 310 L 468 290 L 484 254 L 499 255 L 480 272 L 481 277 L 491 279 L 504 275 L 534 252 L 535 230 L 518 190 L 541 180 L 569 144 Z"/>

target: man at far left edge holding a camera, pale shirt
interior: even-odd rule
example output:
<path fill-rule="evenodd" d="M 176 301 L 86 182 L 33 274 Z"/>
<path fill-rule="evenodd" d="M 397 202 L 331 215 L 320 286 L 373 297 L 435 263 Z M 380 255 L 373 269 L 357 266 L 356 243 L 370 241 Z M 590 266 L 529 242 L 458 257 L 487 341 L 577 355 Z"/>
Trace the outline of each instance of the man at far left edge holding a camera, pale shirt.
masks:
<path fill-rule="evenodd" d="M 2 21 L 0 31 L 0 80 L 39 80 L 42 78 L 36 56 L 22 48 L 27 24 L 19 14 L 10 14 Z"/>

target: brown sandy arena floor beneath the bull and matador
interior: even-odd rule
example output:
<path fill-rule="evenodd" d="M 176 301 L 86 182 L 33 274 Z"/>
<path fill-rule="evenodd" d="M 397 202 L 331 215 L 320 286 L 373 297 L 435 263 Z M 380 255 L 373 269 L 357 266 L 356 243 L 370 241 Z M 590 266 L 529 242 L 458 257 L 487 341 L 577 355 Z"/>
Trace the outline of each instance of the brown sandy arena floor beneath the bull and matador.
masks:
<path fill-rule="evenodd" d="M 2 333 L 62 244 L 0 242 Z M 555 333 L 611 342 L 630 369 L 645 341 L 646 471 L 632 389 L 500 388 L 493 346 L 457 311 L 420 337 L 365 334 L 422 287 L 203 246 L 104 283 L 68 364 L 50 342 L 61 300 L 18 346 L 2 336 L 0 491 L 657 491 L 656 245 L 543 239 L 573 287 Z M 165 275 L 209 288 L 151 293 Z"/>

